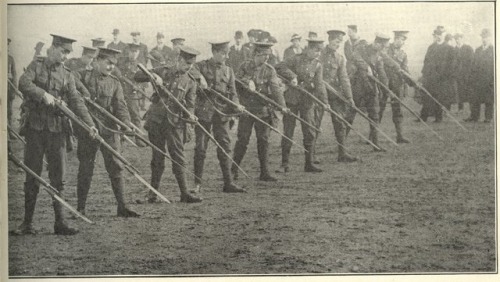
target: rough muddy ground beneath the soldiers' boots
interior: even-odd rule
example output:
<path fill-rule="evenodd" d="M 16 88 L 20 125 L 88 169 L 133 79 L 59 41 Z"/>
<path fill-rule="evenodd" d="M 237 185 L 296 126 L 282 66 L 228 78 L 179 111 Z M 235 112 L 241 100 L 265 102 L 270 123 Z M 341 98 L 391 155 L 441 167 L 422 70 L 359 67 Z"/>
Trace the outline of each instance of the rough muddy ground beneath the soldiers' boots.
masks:
<path fill-rule="evenodd" d="M 467 115 L 457 114 L 460 119 Z M 390 116 L 386 114 L 382 128 L 394 136 Z M 242 165 L 251 178 L 238 181 L 249 192 L 242 195 L 222 193 L 212 146 L 200 204 L 179 202 L 169 163 L 161 192 L 172 204 L 136 204 L 145 188 L 124 173 L 127 201 L 142 214 L 137 219 L 115 216 L 99 155 L 87 202 L 87 216 L 96 224 L 69 220 L 81 230 L 78 235 L 53 235 L 51 199 L 41 191 L 34 219 L 39 234 L 9 237 L 9 274 L 496 271 L 494 125 L 467 124 L 469 132 L 463 132 L 449 118 L 430 122 L 442 142 L 408 112 L 405 117 L 412 144 L 394 147 L 384 140 L 388 152 L 374 153 L 351 134 L 349 148 L 362 158 L 352 164 L 336 162 L 332 125 L 325 117 L 317 149 L 325 172 L 303 172 L 303 154 L 294 148 L 292 171 L 277 175 L 278 183 L 258 181 L 252 137 Z M 355 128 L 367 136 L 368 126 L 359 116 Z M 299 136 L 300 129 L 295 136 L 300 142 Z M 281 160 L 279 141 L 272 134 L 273 170 Z M 22 157 L 21 143 L 13 146 Z M 192 169 L 193 143 L 186 151 Z M 125 145 L 123 154 L 149 181 L 150 149 Z M 64 196 L 76 206 L 75 152 L 68 160 Z M 10 164 L 9 229 L 23 218 L 23 181 L 24 173 Z"/>

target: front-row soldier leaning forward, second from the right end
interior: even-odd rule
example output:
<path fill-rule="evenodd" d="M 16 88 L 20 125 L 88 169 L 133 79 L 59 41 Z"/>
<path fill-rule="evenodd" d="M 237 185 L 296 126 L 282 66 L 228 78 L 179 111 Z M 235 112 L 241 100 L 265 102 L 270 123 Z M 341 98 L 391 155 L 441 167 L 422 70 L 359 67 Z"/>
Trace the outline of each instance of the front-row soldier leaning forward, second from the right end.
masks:
<path fill-rule="evenodd" d="M 378 85 L 370 80 L 370 76 L 377 77 L 385 85 L 388 84 L 381 52 L 388 47 L 389 40 L 389 36 L 377 33 L 372 44 L 358 45 L 351 57 L 354 71 L 351 79 L 354 103 L 358 108 L 366 108 L 368 117 L 375 123 L 379 122 L 379 96 L 381 94 Z M 346 120 L 352 124 L 355 117 L 356 111 L 350 109 Z M 346 135 L 348 133 L 349 129 Z M 369 139 L 378 147 L 374 147 L 374 151 L 385 151 L 378 144 L 378 133 L 372 124 L 370 124 Z"/>

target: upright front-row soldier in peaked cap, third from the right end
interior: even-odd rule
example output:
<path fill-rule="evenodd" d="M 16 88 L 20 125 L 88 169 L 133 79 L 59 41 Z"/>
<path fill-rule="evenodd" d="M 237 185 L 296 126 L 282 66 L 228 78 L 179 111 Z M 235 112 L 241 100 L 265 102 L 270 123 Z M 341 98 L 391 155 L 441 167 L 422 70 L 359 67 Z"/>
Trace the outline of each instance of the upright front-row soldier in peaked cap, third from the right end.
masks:
<path fill-rule="evenodd" d="M 344 116 L 347 112 L 349 106 L 354 104 L 352 98 L 351 82 L 349 81 L 349 76 L 347 75 L 347 67 L 345 57 L 338 53 L 340 44 L 344 40 L 345 32 L 341 30 L 330 30 L 328 33 L 328 45 L 321 52 L 320 62 L 323 65 L 323 79 L 332 87 L 334 87 L 337 92 L 344 97 L 345 100 L 350 102 L 346 104 L 342 99 L 338 98 L 334 93 L 328 94 L 328 102 L 332 110 L 338 114 Z M 323 116 L 323 111 L 318 113 L 319 119 L 317 127 L 321 127 L 321 120 Z M 331 115 L 333 130 L 335 132 L 335 138 L 339 143 L 339 153 L 337 161 L 339 162 L 355 162 L 357 158 L 349 155 L 345 151 L 345 134 L 346 126 L 343 121 L 341 121 L 335 115 Z M 317 137 L 316 137 L 317 139 Z"/>

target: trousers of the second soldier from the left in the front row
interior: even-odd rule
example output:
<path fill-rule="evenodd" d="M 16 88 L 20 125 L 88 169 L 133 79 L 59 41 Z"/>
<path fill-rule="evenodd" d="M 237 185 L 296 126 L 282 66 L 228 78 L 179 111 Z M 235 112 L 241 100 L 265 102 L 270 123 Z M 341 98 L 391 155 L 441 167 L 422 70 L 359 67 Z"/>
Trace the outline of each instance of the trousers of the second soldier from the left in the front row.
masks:
<path fill-rule="evenodd" d="M 119 152 L 121 147 L 120 135 L 114 133 L 101 134 L 104 141 L 108 143 L 115 151 Z M 100 148 L 99 142 L 90 139 L 87 136 L 79 136 L 77 156 L 80 162 L 78 167 L 77 179 L 77 197 L 79 211 L 85 210 L 85 203 L 87 195 L 90 190 L 92 176 L 94 174 L 94 163 L 97 151 Z M 104 159 L 104 166 L 108 172 L 109 179 L 111 180 L 111 188 L 116 198 L 118 208 L 125 207 L 125 200 L 123 196 L 123 163 L 118 160 L 108 149 L 101 148 L 102 157 Z"/>

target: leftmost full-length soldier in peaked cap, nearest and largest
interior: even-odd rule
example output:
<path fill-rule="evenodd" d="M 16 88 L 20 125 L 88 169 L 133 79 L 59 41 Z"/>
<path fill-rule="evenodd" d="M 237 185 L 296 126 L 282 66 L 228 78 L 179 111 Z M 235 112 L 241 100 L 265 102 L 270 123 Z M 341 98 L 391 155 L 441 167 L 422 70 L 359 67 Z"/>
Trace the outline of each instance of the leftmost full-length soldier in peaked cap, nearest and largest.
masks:
<path fill-rule="evenodd" d="M 76 92 L 71 72 L 63 65 L 66 56 L 73 51 L 76 40 L 53 35 L 52 46 L 47 49 L 47 57 L 39 57 L 31 62 L 19 79 L 19 90 L 24 93 L 24 115 L 20 133 L 26 137 L 24 163 L 40 175 L 43 169 L 43 156 L 47 154 L 50 184 L 62 192 L 66 168 L 66 134 L 69 121 L 55 109 L 56 99 L 62 99 L 69 108 L 91 127 L 93 135 L 97 129 L 85 107 L 81 96 Z M 15 234 L 33 234 L 33 213 L 35 211 L 39 184 L 35 178 L 26 175 L 24 184 L 24 221 Z M 55 214 L 54 232 L 60 235 L 78 233 L 64 220 L 62 204 L 52 201 Z"/>

